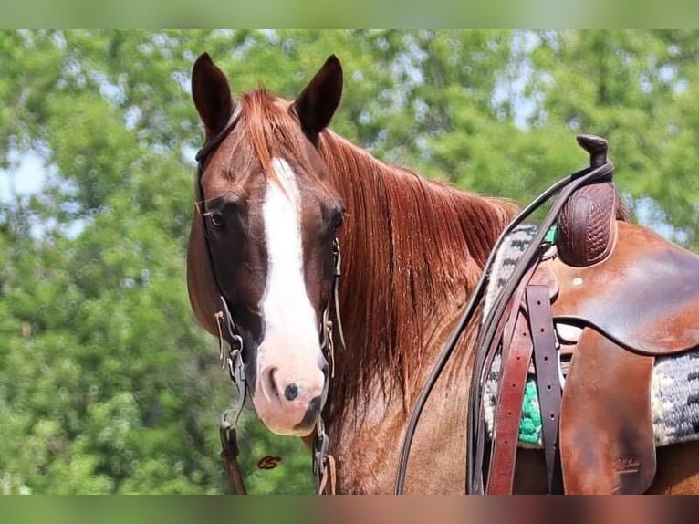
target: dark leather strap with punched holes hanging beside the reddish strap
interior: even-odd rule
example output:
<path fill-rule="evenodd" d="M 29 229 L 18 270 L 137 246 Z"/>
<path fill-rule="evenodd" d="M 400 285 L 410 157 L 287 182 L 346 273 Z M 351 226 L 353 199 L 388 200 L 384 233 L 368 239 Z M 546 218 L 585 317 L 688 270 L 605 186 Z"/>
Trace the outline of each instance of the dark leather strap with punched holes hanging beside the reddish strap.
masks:
<path fill-rule="evenodd" d="M 542 440 L 546 457 L 549 493 L 562 492 L 558 459 L 558 419 L 560 417 L 560 380 L 556 333 L 551 317 L 548 286 L 527 286 L 529 330 L 534 344 L 538 402 L 541 406 Z"/>

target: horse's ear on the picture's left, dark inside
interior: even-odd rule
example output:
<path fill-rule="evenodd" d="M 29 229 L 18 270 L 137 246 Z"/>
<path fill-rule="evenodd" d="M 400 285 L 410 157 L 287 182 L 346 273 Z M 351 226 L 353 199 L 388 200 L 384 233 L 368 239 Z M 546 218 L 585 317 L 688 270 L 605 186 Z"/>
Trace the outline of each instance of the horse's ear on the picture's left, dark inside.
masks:
<path fill-rule="evenodd" d="M 233 112 L 233 99 L 224 72 L 208 53 L 196 59 L 192 68 L 192 99 L 207 135 L 223 131 Z"/>

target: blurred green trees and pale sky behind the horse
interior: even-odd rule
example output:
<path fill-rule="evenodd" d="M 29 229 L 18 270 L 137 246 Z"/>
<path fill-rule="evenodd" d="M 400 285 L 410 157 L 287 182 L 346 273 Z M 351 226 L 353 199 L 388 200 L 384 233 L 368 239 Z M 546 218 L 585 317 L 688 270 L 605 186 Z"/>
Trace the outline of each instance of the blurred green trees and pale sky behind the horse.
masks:
<path fill-rule="evenodd" d="M 203 51 L 288 99 L 334 53 L 334 131 L 521 204 L 605 136 L 634 218 L 699 250 L 696 31 L 0 32 L 0 493 L 228 490 L 184 280 Z M 239 443 L 252 493 L 313 491 L 297 439 L 247 414 Z"/>

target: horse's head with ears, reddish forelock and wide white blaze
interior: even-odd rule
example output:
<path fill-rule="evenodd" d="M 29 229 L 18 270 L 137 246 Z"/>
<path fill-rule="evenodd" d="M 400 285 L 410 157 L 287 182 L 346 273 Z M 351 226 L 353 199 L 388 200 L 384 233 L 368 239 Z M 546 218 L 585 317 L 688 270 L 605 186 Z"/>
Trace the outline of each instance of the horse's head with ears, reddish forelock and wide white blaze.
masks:
<path fill-rule="evenodd" d="M 229 311 L 256 414 L 279 435 L 308 435 L 328 394 L 325 321 L 345 208 L 317 146 L 341 90 L 334 56 L 293 101 L 264 90 L 234 100 L 207 54 L 193 66 L 205 141 L 187 253 L 190 301 L 215 336 L 216 316 Z"/>

